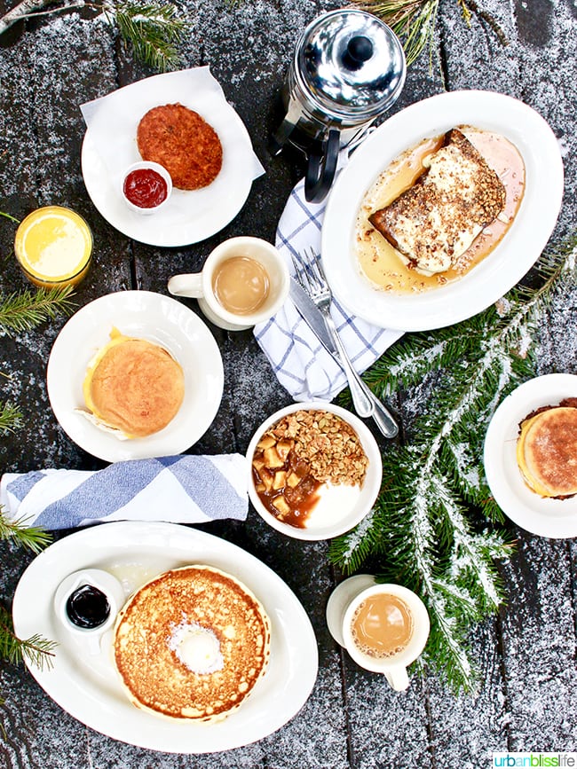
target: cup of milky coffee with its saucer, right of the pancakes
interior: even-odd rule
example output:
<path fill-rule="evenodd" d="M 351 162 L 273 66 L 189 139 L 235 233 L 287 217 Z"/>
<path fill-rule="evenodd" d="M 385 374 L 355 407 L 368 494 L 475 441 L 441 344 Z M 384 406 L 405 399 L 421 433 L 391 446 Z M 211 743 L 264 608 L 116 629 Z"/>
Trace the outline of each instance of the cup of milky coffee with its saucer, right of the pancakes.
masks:
<path fill-rule="evenodd" d="M 396 691 L 408 687 L 407 666 L 429 638 L 423 601 L 402 585 L 361 574 L 338 585 L 327 606 L 328 629 L 361 667 L 382 673 Z"/>

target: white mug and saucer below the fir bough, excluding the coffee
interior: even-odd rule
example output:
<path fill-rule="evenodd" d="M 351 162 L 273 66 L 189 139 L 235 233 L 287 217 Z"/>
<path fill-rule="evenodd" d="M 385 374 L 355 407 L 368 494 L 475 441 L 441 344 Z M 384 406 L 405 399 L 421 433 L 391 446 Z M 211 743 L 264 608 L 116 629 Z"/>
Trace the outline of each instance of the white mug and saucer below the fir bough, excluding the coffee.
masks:
<path fill-rule="evenodd" d="M 398 652 L 386 657 L 364 653 L 352 637 L 352 620 L 355 612 L 370 596 L 385 594 L 401 600 L 412 619 L 412 632 Z M 327 605 L 327 624 L 333 638 L 344 647 L 361 667 L 382 673 L 391 687 L 403 691 L 408 687 L 407 667 L 422 653 L 429 638 L 429 614 L 423 601 L 415 592 L 402 585 L 379 584 L 375 577 L 360 574 L 345 579 L 331 594 Z"/>

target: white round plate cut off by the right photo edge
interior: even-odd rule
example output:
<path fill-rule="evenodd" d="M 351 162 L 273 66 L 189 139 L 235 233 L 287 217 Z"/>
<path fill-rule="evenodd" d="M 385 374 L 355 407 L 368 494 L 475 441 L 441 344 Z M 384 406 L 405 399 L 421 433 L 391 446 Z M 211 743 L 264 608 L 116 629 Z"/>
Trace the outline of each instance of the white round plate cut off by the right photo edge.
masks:
<path fill-rule="evenodd" d="M 485 473 L 497 505 L 540 537 L 577 537 L 577 497 L 544 499 L 530 490 L 517 464 L 519 423 L 541 406 L 577 396 L 577 376 L 551 373 L 526 381 L 494 412 L 485 438 Z"/>

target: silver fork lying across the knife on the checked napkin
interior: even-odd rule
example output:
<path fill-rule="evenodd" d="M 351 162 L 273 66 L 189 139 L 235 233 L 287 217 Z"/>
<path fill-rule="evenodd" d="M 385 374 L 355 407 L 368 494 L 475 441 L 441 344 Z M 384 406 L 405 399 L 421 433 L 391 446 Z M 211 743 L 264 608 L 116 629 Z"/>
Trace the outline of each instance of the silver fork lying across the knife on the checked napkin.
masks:
<path fill-rule="evenodd" d="M 375 393 L 360 378 L 355 371 L 351 359 L 349 358 L 341 337 L 336 329 L 335 321 L 330 314 L 330 302 L 332 294 L 328 286 L 325 273 L 320 264 L 320 258 L 314 252 L 304 252 L 300 255 L 301 262 L 293 260 L 296 270 L 296 279 L 309 294 L 312 302 L 319 308 L 328 333 L 333 340 L 339 363 L 343 366 L 346 374 L 349 388 L 351 389 L 352 403 L 355 411 L 360 417 L 372 417 L 377 427 L 387 438 L 393 438 L 399 433 L 399 427 L 391 417 L 391 413 L 385 408 L 381 401 L 375 396 Z"/>

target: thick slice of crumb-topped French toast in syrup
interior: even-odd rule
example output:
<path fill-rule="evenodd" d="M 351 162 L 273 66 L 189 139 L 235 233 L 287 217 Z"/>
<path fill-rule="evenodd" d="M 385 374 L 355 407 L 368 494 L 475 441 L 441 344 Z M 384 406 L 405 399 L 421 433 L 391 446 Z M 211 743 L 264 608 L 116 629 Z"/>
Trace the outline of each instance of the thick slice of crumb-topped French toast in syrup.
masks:
<path fill-rule="evenodd" d="M 500 178 L 459 129 L 423 160 L 423 174 L 368 221 L 407 266 L 432 275 L 447 271 L 478 234 L 502 213 Z"/>

